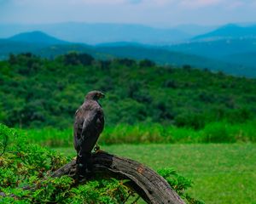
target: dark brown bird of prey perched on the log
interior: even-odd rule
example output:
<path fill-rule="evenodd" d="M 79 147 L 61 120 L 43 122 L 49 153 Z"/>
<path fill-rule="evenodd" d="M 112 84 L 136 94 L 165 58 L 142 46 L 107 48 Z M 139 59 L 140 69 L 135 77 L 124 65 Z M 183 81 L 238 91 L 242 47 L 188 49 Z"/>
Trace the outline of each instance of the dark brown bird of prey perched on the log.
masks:
<path fill-rule="evenodd" d="M 100 91 L 86 94 L 84 104 L 75 113 L 73 127 L 74 148 L 77 150 L 77 175 L 83 179 L 90 173 L 91 150 L 104 128 L 104 114 L 98 99 L 104 98 Z M 98 146 L 97 146 L 98 148 Z"/>

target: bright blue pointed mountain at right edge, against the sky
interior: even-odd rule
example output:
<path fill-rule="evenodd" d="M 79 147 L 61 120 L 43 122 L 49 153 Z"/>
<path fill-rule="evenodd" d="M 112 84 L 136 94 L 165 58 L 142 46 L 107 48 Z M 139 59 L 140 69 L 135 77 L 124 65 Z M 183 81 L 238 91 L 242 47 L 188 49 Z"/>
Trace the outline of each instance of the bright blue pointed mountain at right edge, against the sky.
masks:
<path fill-rule="evenodd" d="M 230 38 L 256 38 L 256 26 L 236 26 L 229 24 L 222 26 L 215 31 L 194 37 L 193 40 L 219 40 Z"/>

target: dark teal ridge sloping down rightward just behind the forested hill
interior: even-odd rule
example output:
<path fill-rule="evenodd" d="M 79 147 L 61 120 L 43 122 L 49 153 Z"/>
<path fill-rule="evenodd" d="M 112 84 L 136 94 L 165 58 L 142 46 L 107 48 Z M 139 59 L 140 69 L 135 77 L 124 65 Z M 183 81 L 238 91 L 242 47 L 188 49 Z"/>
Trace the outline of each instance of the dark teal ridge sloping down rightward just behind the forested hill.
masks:
<path fill-rule="evenodd" d="M 110 54 L 120 58 L 151 59 L 161 65 L 191 65 L 211 71 L 224 71 L 235 76 L 256 77 L 255 66 L 241 66 L 222 59 L 211 59 L 195 54 L 183 54 L 181 52 L 168 51 L 160 47 L 102 47 L 97 48 L 100 53 Z"/>

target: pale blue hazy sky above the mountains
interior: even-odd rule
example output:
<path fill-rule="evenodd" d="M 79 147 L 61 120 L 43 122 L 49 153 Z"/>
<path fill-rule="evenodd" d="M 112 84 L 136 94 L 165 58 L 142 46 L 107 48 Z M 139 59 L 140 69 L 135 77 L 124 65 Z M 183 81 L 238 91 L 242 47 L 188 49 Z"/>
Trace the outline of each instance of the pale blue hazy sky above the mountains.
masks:
<path fill-rule="evenodd" d="M 0 0 L 0 23 L 255 23 L 256 0 Z"/>

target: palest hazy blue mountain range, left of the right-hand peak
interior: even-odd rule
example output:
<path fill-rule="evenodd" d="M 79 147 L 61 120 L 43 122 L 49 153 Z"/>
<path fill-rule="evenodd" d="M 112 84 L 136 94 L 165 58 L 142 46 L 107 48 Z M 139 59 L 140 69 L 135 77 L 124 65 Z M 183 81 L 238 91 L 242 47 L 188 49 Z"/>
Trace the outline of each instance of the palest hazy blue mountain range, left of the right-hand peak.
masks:
<path fill-rule="evenodd" d="M 0 25 L 0 37 L 19 32 L 44 31 L 68 42 L 98 44 L 105 42 L 139 42 L 169 44 L 192 36 L 177 29 L 160 29 L 133 24 L 58 23 L 45 25 Z"/>

